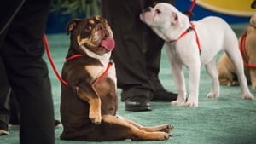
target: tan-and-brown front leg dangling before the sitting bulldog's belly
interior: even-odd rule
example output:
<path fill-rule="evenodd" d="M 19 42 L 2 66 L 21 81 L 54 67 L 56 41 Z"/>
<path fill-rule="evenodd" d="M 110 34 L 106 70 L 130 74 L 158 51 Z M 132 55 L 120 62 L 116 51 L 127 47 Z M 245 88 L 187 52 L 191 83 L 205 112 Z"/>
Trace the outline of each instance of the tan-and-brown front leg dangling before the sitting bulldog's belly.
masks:
<path fill-rule="evenodd" d="M 79 87 L 76 87 L 77 95 L 79 95 L 79 98 L 87 101 L 90 105 L 89 109 L 89 118 L 90 121 L 94 124 L 101 124 L 102 122 L 102 110 L 101 105 L 102 101 L 100 99 L 100 96 L 96 94 L 96 91 L 91 87 L 90 93 L 84 92 L 82 89 L 79 89 Z"/>

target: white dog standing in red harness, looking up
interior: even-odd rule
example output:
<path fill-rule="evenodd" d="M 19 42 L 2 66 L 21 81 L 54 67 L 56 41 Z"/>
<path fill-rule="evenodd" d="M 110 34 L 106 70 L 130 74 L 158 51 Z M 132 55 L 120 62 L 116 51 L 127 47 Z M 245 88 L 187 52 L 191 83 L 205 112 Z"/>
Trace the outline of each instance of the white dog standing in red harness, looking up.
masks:
<path fill-rule="evenodd" d="M 224 50 L 237 68 L 241 84 L 241 97 L 252 100 L 247 87 L 242 58 L 237 37 L 230 26 L 218 17 L 206 17 L 189 22 L 189 18 L 169 3 L 157 3 L 154 8 L 145 9 L 140 19 L 168 45 L 167 53 L 172 64 L 172 74 L 177 84 L 177 101 L 173 105 L 198 107 L 200 67 L 205 65 L 212 78 L 212 89 L 208 98 L 219 95 L 218 71 L 215 56 Z M 189 69 L 189 98 L 186 101 L 186 88 L 182 65 Z"/>

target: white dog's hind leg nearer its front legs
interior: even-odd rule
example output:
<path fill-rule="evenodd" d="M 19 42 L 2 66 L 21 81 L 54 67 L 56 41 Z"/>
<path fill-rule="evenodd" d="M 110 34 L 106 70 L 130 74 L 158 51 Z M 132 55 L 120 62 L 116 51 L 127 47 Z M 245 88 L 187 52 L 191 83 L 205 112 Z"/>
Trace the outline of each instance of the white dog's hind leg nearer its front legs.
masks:
<path fill-rule="evenodd" d="M 219 95 L 219 82 L 218 82 L 218 70 L 216 68 L 215 59 L 212 59 L 206 64 L 206 70 L 212 79 L 212 89 L 208 93 L 208 98 L 218 98 Z"/>

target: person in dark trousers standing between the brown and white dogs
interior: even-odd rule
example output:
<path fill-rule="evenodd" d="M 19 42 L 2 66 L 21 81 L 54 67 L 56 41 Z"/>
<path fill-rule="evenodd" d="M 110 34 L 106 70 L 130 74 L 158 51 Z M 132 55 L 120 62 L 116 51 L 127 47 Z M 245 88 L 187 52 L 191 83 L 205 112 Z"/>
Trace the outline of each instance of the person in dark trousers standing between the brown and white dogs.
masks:
<path fill-rule="evenodd" d="M 150 101 L 174 101 L 177 94 L 168 92 L 158 78 L 160 55 L 165 43 L 139 19 L 140 12 L 155 2 L 174 0 L 102 0 L 102 16 L 113 30 L 116 48 L 113 61 L 125 110 L 150 111 Z"/>

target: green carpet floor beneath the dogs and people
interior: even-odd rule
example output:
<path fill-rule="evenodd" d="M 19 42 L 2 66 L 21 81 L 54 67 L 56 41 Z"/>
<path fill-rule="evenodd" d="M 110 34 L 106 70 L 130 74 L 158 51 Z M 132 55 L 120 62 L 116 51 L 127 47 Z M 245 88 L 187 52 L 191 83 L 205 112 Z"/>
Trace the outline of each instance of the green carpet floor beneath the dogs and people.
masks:
<path fill-rule="evenodd" d="M 239 36 L 244 25 L 233 26 Z M 66 34 L 48 35 L 51 55 L 59 72 L 67 55 L 69 37 Z M 219 56 L 219 55 L 218 55 Z M 45 56 L 46 59 L 46 56 Z M 46 60 L 48 62 L 48 60 Z M 184 69 L 186 81 L 187 70 Z M 49 66 L 49 76 L 54 95 L 55 118 L 60 119 L 60 82 Z M 162 51 L 160 80 L 168 90 L 176 91 L 172 80 L 170 64 L 166 50 Z M 187 85 L 189 86 L 189 85 Z M 189 88 L 189 87 L 187 87 Z M 204 67 L 201 68 L 199 107 L 173 107 L 169 102 L 151 102 L 151 112 L 127 112 L 123 102 L 119 101 L 118 114 L 130 118 L 138 124 L 153 126 L 172 124 L 174 131 L 168 141 L 61 141 L 62 128 L 55 130 L 56 144 L 119 143 L 119 144 L 253 144 L 256 143 L 256 100 L 244 101 L 239 87 L 221 86 L 218 99 L 207 99 L 211 80 Z M 251 89 L 251 88 L 250 88 Z M 256 90 L 251 89 L 256 96 Z M 120 89 L 119 89 L 120 92 Z M 35 125 L 36 126 L 36 125 Z M 10 128 L 10 135 L 0 136 L 1 144 L 19 143 L 19 129 Z"/>

